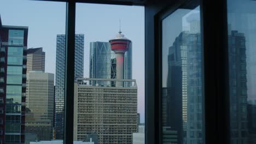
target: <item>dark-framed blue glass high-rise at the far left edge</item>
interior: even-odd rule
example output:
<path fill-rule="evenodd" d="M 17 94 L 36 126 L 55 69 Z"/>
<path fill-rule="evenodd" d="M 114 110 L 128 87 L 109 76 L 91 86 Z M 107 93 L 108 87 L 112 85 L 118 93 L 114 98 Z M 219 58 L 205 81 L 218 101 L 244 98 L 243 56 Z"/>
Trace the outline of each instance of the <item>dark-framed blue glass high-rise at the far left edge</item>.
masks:
<path fill-rule="evenodd" d="M 0 17 L 0 142 L 25 142 L 28 27 L 4 26 Z"/>

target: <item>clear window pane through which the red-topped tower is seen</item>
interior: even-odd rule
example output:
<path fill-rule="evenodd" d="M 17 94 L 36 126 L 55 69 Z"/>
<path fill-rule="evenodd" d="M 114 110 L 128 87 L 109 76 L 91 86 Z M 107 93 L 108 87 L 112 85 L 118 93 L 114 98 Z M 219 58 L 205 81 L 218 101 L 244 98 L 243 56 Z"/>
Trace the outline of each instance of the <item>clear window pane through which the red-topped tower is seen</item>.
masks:
<path fill-rule="evenodd" d="M 144 143 L 144 8 L 76 8 L 74 141 Z"/>

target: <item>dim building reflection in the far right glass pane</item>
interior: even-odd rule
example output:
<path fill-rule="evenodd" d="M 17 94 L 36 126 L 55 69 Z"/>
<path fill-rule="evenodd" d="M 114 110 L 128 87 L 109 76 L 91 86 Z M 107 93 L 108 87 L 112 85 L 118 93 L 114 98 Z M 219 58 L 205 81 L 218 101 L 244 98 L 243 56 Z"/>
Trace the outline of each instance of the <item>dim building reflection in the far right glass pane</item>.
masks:
<path fill-rule="evenodd" d="M 231 143 L 247 143 L 247 74 L 245 35 L 229 35 L 229 87 Z"/>

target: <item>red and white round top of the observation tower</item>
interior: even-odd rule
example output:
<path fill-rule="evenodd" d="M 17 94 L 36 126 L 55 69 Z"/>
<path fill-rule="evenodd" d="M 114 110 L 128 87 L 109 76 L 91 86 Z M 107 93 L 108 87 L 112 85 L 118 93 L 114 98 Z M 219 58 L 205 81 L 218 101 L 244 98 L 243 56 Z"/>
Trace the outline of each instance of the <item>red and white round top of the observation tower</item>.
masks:
<path fill-rule="evenodd" d="M 129 49 L 131 40 L 125 38 L 120 31 L 118 33 L 116 38 L 109 40 L 111 50 L 115 53 L 125 53 Z"/>

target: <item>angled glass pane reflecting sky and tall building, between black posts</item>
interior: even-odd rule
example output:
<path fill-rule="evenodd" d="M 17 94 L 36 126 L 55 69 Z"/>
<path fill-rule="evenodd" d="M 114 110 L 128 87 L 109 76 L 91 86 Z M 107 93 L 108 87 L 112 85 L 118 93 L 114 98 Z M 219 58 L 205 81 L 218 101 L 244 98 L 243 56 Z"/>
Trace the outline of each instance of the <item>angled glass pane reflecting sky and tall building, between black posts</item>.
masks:
<path fill-rule="evenodd" d="M 200 7 L 188 6 L 162 20 L 162 143 L 204 143 Z"/>

